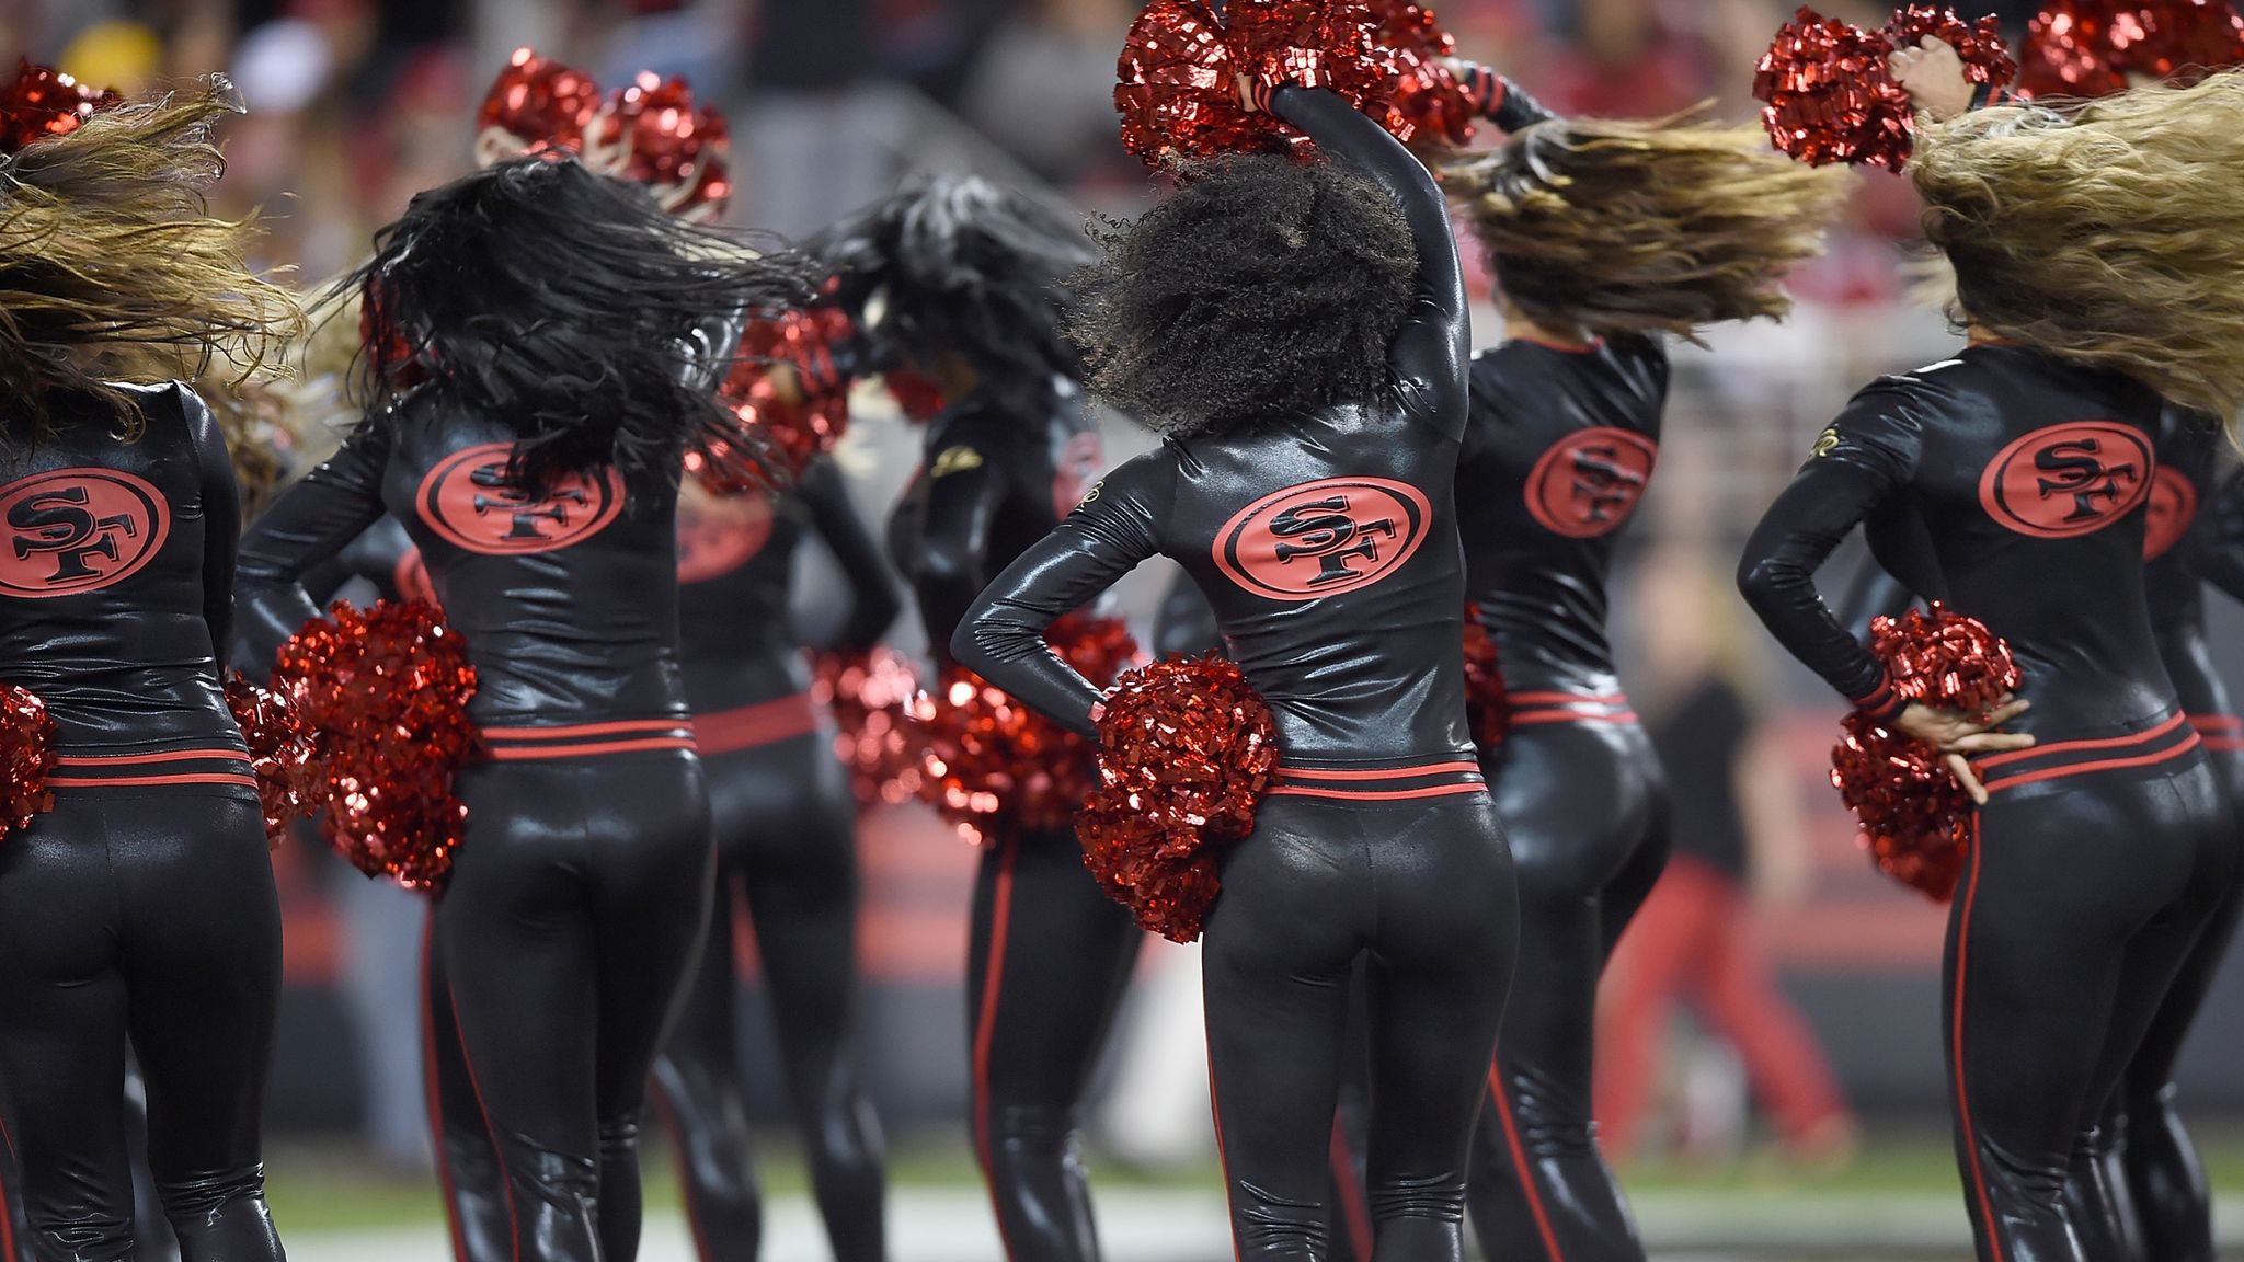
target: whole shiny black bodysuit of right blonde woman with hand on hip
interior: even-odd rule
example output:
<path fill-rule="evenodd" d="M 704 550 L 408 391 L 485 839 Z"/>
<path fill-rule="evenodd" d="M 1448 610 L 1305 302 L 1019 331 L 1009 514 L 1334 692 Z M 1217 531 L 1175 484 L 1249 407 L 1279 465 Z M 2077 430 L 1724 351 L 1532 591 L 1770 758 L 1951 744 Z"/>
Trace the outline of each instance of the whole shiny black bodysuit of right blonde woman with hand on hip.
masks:
<path fill-rule="evenodd" d="M 1739 584 L 1784 647 L 1871 714 L 1885 669 L 1813 573 L 1865 525 L 1878 564 L 2011 642 L 2029 750 L 1990 793 L 1948 925 L 1957 1163 L 1988 1262 L 2087 1262 L 2067 1172 L 2233 874 L 2226 806 L 2143 595 L 2159 400 L 2015 346 L 1883 379 L 1746 546 Z"/>

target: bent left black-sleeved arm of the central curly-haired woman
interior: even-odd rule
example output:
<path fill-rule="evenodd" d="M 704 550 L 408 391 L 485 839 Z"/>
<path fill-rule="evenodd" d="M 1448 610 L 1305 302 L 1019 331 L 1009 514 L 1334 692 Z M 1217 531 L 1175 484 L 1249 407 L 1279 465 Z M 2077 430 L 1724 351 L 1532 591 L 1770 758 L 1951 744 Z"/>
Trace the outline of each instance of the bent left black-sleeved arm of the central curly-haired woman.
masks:
<path fill-rule="evenodd" d="M 981 593 L 951 638 L 958 662 L 1052 721 L 1095 734 L 1091 714 L 1100 689 L 1052 653 L 1043 629 L 1160 552 L 1158 523 L 1169 514 L 1171 485 L 1167 451 L 1106 474 L 1066 521 Z"/>

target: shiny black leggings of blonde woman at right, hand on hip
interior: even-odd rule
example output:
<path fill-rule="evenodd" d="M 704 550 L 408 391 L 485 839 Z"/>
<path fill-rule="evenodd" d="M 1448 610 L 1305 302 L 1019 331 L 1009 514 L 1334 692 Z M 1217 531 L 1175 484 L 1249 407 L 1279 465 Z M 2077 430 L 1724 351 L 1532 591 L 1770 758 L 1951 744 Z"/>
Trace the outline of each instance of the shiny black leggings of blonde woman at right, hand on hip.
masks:
<path fill-rule="evenodd" d="M 2105 1190 L 2080 1188 L 2085 1138 L 2226 896 L 2231 851 L 2197 757 L 1995 790 L 1979 811 L 1941 1022 L 1981 1262 L 2116 1258 Z"/>

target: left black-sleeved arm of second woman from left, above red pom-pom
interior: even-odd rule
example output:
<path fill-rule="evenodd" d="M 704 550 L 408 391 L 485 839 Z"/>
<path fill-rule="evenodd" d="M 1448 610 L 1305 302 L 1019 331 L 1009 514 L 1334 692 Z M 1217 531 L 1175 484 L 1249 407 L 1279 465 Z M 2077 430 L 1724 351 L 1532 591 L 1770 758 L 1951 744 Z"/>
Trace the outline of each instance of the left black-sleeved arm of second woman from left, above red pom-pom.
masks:
<path fill-rule="evenodd" d="M 242 631 L 236 665 L 251 674 L 272 669 L 280 642 L 319 615 L 305 575 L 381 521 L 388 463 L 390 429 L 361 424 L 249 528 L 233 577 Z"/>

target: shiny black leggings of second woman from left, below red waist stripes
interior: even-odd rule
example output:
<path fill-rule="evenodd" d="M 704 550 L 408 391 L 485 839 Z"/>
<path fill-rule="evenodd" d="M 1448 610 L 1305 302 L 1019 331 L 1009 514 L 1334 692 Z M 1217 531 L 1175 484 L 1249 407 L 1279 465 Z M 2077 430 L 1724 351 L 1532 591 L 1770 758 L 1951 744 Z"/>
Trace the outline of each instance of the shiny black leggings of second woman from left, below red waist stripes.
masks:
<path fill-rule="evenodd" d="M 460 799 L 467 838 L 435 903 L 433 957 L 467 1096 L 496 1141 L 498 1258 L 633 1258 L 646 1076 L 709 923 L 700 763 L 675 752 L 482 763 L 460 775 Z M 442 1004 L 431 988 L 431 1008 Z M 433 1026 L 431 1042 L 444 1033 Z M 449 1141 L 462 1127 L 447 1114 L 456 1192 L 476 1174 Z M 496 1244 L 489 1222 L 465 1217 L 456 1244 Z"/>

